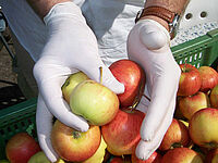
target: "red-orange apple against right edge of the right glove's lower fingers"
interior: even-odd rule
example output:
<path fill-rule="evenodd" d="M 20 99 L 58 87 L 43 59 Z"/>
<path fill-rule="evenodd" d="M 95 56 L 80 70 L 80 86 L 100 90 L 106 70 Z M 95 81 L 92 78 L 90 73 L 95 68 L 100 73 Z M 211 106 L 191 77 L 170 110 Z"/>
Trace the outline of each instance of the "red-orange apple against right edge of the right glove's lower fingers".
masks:
<path fill-rule="evenodd" d="M 189 143 L 187 127 L 179 120 L 173 118 L 158 149 L 167 151 L 172 148 L 186 147 Z"/>

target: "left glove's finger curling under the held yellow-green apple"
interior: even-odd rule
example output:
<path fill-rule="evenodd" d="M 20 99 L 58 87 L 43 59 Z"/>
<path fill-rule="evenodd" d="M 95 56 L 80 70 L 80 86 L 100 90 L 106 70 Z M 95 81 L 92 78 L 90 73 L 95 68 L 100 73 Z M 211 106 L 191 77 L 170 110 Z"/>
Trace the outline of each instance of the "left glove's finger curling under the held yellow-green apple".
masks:
<path fill-rule="evenodd" d="M 48 108 L 60 122 L 74 129 L 86 131 L 88 129 L 87 121 L 81 116 L 73 114 L 69 104 L 62 97 L 61 86 L 63 78 L 68 77 L 64 73 L 70 73 L 62 66 L 52 66 L 52 64 L 35 65 L 34 75 L 36 77 L 39 91 Z"/>

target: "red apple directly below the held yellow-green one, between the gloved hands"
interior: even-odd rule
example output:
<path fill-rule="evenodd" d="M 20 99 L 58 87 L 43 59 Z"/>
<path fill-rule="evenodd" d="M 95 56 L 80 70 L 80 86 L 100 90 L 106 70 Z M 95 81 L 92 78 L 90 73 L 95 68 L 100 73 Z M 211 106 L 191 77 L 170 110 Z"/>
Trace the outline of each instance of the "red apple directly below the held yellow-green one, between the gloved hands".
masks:
<path fill-rule="evenodd" d="M 132 154 L 141 139 L 140 129 L 144 117 L 141 111 L 120 109 L 110 123 L 101 126 L 107 150 L 113 155 Z"/>

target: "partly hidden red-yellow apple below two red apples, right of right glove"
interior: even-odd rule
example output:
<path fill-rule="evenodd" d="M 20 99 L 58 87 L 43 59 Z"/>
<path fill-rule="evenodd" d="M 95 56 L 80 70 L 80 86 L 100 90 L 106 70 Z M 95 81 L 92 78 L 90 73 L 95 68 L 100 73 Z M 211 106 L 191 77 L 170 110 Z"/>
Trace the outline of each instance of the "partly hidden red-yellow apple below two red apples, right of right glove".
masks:
<path fill-rule="evenodd" d="M 182 115 L 187 120 L 190 120 L 196 111 L 210 106 L 208 96 L 202 91 L 193 96 L 181 97 L 178 103 Z"/>

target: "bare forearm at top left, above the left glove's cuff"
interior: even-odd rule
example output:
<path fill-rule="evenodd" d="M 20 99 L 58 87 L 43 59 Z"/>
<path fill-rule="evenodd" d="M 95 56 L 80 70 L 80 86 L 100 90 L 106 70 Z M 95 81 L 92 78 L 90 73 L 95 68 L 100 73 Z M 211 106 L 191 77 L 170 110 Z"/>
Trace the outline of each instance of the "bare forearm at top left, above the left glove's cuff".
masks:
<path fill-rule="evenodd" d="M 38 16 L 43 20 L 55 4 L 61 2 L 68 2 L 70 0 L 26 0 L 26 1 L 38 14 Z"/>

